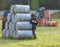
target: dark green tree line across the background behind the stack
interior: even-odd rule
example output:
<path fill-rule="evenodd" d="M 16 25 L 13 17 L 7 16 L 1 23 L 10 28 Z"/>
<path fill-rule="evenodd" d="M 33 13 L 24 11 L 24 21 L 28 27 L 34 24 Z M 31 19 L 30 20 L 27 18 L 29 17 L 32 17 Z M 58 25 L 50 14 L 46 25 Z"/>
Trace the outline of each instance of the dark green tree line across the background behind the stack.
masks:
<path fill-rule="evenodd" d="M 28 0 L 0 0 L 0 11 L 9 10 L 13 4 L 28 4 Z M 46 9 L 60 9 L 60 0 L 29 0 L 31 9 L 45 7 Z"/>

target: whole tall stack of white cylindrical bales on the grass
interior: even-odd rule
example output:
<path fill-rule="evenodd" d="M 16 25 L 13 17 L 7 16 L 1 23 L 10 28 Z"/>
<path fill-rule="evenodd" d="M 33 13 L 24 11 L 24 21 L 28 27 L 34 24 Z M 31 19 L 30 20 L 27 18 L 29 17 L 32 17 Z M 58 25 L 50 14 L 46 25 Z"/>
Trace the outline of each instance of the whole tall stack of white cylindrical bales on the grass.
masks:
<path fill-rule="evenodd" d="M 32 38 L 30 7 L 28 5 L 12 5 L 10 11 L 2 36 L 18 39 Z"/>

